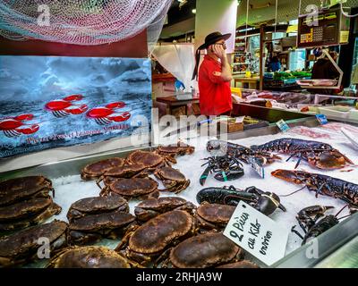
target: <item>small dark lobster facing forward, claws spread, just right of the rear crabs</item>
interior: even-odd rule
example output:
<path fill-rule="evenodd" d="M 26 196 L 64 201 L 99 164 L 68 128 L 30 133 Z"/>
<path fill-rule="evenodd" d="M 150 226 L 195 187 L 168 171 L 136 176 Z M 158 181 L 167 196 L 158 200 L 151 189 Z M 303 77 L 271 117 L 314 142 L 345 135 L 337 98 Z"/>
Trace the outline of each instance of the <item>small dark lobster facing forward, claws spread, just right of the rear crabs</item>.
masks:
<path fill-rule="evenodd" d="M 204 160 L 208 162 L 202 164 L 202 166 L 208 164 L 200 176 L 200 185 L 203 186 L 208 178 L 209 172 L 216 172 L 214 178 L 217 181 L 232 181 L 243 176 L 243 164 L 237 161 L 233 156 L 214 156 L 208 157 Z"/>

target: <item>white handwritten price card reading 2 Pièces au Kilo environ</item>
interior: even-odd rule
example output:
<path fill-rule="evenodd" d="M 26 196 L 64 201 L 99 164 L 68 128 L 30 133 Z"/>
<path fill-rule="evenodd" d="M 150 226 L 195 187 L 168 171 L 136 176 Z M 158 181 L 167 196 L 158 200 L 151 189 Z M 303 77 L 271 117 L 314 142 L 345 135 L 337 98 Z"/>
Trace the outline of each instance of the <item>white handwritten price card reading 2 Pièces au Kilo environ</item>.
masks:
<path fill-rule="evenodd" d="M 288 234 L 289 230 L 243 201 L 224 231 L 228 239 L 268 266 L 285 257 Z"/>

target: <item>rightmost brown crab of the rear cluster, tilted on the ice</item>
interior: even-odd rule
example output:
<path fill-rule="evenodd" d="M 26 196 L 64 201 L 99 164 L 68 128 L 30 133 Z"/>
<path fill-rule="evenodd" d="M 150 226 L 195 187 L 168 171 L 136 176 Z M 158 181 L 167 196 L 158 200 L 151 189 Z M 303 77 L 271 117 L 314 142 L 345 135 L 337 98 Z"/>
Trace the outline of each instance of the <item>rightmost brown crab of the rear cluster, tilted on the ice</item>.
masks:
<path fill-rule="evenodd" d="M 190 180 L 186 180 L 182 172 L 172 167 L 161 167 L 154 172 L 154 175 L 160 181 L 163 181 L 166 187 L 166 189 L 160 189 L 163 191 L 170 191 L 177 194 L 190 185 Z"/>

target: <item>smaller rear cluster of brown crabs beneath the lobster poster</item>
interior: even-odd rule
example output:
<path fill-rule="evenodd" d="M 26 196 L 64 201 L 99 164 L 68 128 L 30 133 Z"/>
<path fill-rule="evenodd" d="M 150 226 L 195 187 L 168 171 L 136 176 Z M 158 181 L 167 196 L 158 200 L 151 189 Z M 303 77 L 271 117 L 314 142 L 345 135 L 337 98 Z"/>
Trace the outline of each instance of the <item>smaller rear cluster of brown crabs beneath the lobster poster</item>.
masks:
<path fill-rule="evenodd" d="M 153 174 L 162 181 L 161 191 L 179 193 L 188 188 L 182 172 L 172 167 L 175 156 L 191 155 L 194 147 L 181 142 L 175 146 L 159 146 L 154 151 L 136 150 L 126 158 L 109 158 L 86 165 L 81 170 L 83 180 L 96 180 L 100 196 L 121 195 L 127 200 L 158 198 L 158 182 L 149 177 Z"/>

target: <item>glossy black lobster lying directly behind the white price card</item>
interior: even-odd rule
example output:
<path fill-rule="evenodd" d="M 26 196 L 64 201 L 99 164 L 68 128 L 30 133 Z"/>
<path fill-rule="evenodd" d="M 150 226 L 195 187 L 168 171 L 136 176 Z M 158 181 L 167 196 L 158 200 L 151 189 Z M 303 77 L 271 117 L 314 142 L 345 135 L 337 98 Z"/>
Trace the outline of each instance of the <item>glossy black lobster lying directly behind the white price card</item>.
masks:
<path fill-rule="evenodd" d="M 229 206 L 237 206 L 237 204 L 243 200 L 262 214 L 272 214 L 277 207 L 286 212 L 286 207 L 280 203 L 280 199 L 275 193 L 265 192 L 256 187 L 236 189 L 234 186 L 229 186 L 223 188 L 211 187 L 201 189 L 196 196 L 196 200 L 199 204 L 208 202 L 209 204 Z"/>

